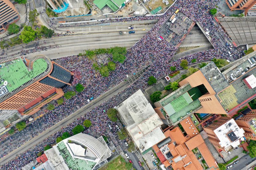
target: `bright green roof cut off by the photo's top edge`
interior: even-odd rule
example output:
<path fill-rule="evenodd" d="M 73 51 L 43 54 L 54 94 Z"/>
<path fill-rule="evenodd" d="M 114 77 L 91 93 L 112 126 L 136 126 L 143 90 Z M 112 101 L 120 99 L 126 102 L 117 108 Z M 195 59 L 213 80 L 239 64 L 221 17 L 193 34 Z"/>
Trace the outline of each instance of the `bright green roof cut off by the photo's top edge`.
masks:
<path fill-rule="evenodd" d="M 94 0 L 93 3 L 101 10 L 104 6 L 108 6 L 116 12 L 120 6 L 124 6 L 125 0 Z"/>

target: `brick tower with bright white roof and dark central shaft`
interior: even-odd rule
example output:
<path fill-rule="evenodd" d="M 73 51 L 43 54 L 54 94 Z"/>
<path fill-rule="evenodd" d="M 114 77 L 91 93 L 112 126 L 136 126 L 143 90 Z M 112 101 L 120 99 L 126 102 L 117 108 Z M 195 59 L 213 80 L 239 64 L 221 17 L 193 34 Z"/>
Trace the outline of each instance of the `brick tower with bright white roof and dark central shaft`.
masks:
<path fill-rule="evenodd" d="M 228 151 L 245 140 L 244 130 L 230 117 L 217 117 L 212 124 L 204 127 L 209 141 L 219 151 Z"/>

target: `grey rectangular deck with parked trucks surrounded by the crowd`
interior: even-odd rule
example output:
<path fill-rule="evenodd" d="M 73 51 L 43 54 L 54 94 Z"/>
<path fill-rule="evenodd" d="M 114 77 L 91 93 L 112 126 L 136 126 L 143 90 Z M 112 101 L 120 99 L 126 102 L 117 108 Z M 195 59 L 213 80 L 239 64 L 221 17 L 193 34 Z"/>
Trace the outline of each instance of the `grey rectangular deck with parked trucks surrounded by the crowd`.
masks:
<path fill-rule="evenodd" d="M 175 13 L 168 18 L 162 25 L 158 33 L 168 42 L 177 45 L 179 40 L 188 32 L 188 28 L 192 25 L 191 21 L 182 12 Z"/>

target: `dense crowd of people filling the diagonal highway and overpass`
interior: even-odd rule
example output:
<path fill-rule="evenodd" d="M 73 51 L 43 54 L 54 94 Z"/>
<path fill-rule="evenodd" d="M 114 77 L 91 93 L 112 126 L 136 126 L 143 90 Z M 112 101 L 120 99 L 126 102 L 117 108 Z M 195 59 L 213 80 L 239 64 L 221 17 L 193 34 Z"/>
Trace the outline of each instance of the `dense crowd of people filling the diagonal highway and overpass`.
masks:
<path fill-rule="evenodd" d="M 123 100 L 129 97 L 138 89 L 144 89 L 147 86 L 147 80 L 149 76 L 154 76 L 156 78 L 161 78 L 170 73 L 170 66 L 176 66 L 177 70 L 181 69 L 180 61 L 186 59 L 189 65 L 192 63 L 192 59 L 196 59 L 197 62 L 211 60 L 214 57 L 229 59 L 230 56 L 227 54 L 228 48 L 225 46 L 225 42 L 230 42 L 229 36 L 221 29 L 220 25 L 212 18 L 208 13 L 209 9 L 214 8 L 218 3 L 216 0 L 201 1 L 201 0 L 177 0 L 176 3 L 164 14 L 157 16 L 159 21 L 153 26 L 153 28 L 141 38 L 135 45 L 127 50 L 126 60 L 123 64 L 117 63 L 116 70 L 111 72 L 108 77 L 102 77 L 97 75 L 96 71 L 91 69 L 92 62 L 86 57 L 79 57 L 77 55 L 67 56 L 63 58 L 56 59 L 55 61 L 60 63 L 62 66 L 68 70 L 74 72 L 73 85 L 78 82 L 85 86 L 85 89 L 81 93 L 77 93 L 75 97 L 64 100 L 64 104 L 57 106 L 53 111 L 49 111 L 45 116 L 35 120 L 27 128 L 34 126 L 39 121 L 40 131 L 43 132 L 47 128 L 52 127 L 57 124 L 60 120 L 64 119 L 68 115 L 72 114 L 78 108 L 86 105 L 87 99 L 90 97 L 97 98 L 104 92 L 107 92 L 113 86 L 119 84 L 126 79 L 126 75 L 136 73 L 141 68 L 150 65 L 150 67 L 144 72 L 137 81 L 131 84 L 128 88 L 124 89 L 122 92 L 113 96 L 109 100 L 105 101 L 98 107 L 92 109 L 88 113 L 84 114 L 79 119 L 75 120 L 66 127 L 63 127 L 58 132 L 54 133 L 47 139 L 44 139 L 39 144 L 31 147 L 25 153 L 16 156 L 15 159 L 5 163 L 0 167 L 0 169 L 21 169 L 24 165 L 34 160 L 37 157 L 37 153 L 43 151 L 43 147 L 46 144 L 52 145 L 56 143 L 56 138 L 61 136 L 65 131 L 72 134 L 72 129 L 80 124 L 82 125 L 85 119 L 89 119 L 92 122 L 92 126 L 85 130 L 85 133 L 92 134 L 96 132 L 100 135 L 105 135 L 109 137 L 115 145 L 118 145 L 118 141 L 115 138 L 116 135 L 116 123 L 111 122 L 103 110 L 107 110 L 114 106 L 120 104 Z M 182 57 L 173 62 L 169 62 L 172 56 L 175 54 L 177 47 L 171 45 L 165 40 L 158 40 L 159 34 L 157 31 L 168 19 L 169 16 L 173 14 L 176 9 L 179 9 L 185 15 L 187 15 L 191 20 L 197 21 L 204 29 L 210 30 L 210 35 L 212 37 L 212 44 L 214 49 L 197 52 L 185 57 Z M 130 21 L 130 20 L 144 20 L 144 19 L 156 19 L 155 17 L 133 17 L 133 18 L 121 18 L 115 19 L 117 22 L 120 21 Z M 231 51 L 231 50 L 230 50 Z M 23 51 L 27 53 L 29 51 Z M 32 51 L 33 52 L 33 51 Z M 233 59 L 241 57 L 243 52 L 240 49 L 233 48 L 232 50 Z M 97 76 L 95 76 L 97 75 Z M 66 87 L 64 91 L 74 90 L 74 87 Z M 108 129 L 108 124 L 111 125 L 112 130 Z M 22 132 L 19 132 L 22 133 Z M 34 137 L 39 135 L 38 133 L 31 133 Z M 0 138 L 2 142 L 2 148 L 8 147 L 8 152 L 0 155 L 0 158 L 6 156 L 12 150 L 15 150 L 21 146 L 26 141 L 12 142 L 12 146 L 8 146 L 9 140 L 15 141 L 14 137 L 8 137 L 6 139 Z"/>

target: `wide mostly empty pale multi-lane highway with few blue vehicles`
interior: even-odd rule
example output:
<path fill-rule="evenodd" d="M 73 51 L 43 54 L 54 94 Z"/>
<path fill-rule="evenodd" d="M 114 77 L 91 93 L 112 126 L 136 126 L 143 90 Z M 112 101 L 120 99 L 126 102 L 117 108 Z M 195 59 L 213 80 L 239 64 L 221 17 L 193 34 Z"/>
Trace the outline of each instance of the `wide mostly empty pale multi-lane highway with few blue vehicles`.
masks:
<path fill-rule="evenodd" d="M 49 58 L 59 58 L 68 55 L 75 55 L 84 52 L 87 49 L 97 49 L 97 48 L 109 48 L 114 46 L 124 46 L 130 48 L 134 45 L 140 38 L 142 38 L 153 26 L 154 24 L 140 24 L 134 25 L 133 31 L 135 34 L 129 34 L 129 25 L 122 26 L 97 26 L 89 27 L 87 29 L 92 32 L 85 32 L 79 34 L 70 34 L 68 36 L 54 37 L 52 39 L 42 39 L 39 41 L 34 41 L 39 43 L 40 46 L 56 45 L 58 48 L 51 48 L 43 51 L 37 51 L 34 53 L 28 53 L 27 58 L 31 58 L 37 54 L 47 55 Z M 90 29 L 91 28 L 91 29 Z M 126 31 L 126 34 L 120 35 L 119 31 Z M 72 31 L 72 30 L 70 30 Z M 45 42 L 44 42 L 45 40 Z M 22 45 L 16 45 L 9 48 L 6 53 L 7 55 L 16 55 L 22 48 L 24 50 L 33 49 L 34 42 L 30 42 L 24 45 L 27 48 L 23 48 Z"/>

